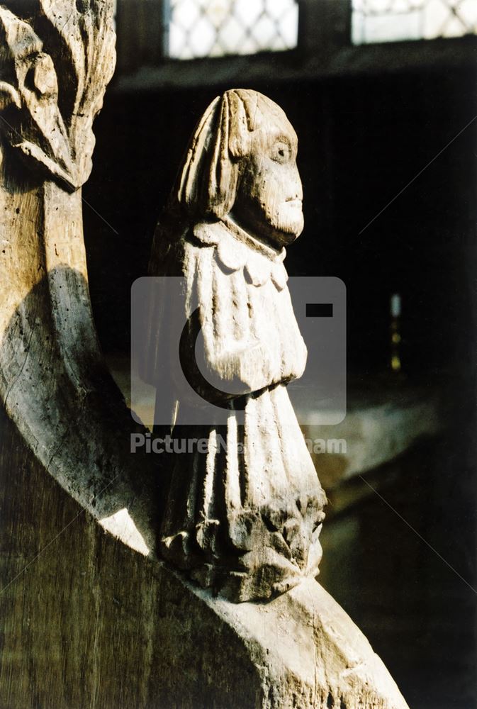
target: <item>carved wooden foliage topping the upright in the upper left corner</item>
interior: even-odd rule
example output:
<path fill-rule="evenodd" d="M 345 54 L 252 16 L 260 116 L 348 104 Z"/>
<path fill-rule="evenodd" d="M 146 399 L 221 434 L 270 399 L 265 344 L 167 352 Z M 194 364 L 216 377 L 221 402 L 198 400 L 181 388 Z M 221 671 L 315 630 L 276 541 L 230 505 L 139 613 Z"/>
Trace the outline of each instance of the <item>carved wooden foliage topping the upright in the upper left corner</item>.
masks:
<path fill-rule="evenodd" d="M 113 74 L 114 45 L 109 0 L 0 6 L 1 129 L 30 167 L 69 191 L 91 172 L 92 123 Z"/>

